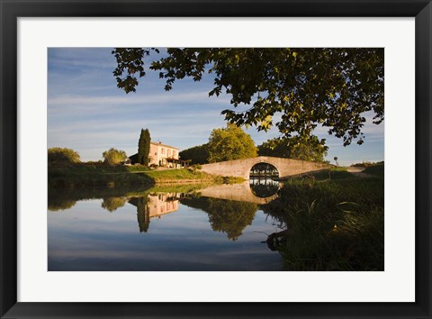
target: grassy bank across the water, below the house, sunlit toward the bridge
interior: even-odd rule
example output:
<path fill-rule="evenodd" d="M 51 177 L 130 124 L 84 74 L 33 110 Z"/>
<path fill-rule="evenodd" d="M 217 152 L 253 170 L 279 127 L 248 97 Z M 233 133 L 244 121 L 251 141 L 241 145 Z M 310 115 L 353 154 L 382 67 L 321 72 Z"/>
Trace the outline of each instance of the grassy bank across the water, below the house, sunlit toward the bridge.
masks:
<path fill-rule="evenodd" d="M 77 163 L 48 168 L 49 187 L 126 187 L 163 183 L 237 182 L 193 169 L 150 170 L 145 166 Z"/>

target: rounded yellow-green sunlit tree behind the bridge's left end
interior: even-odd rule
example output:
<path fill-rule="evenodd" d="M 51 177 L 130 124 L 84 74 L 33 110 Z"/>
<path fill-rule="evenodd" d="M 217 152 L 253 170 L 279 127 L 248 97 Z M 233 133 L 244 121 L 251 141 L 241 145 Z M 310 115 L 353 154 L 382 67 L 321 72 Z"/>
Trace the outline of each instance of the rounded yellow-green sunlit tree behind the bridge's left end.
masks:
<path fill-rule="evenodd" d="M 240 160 L 257 156 L 257 147 L 249 134 L 236 124 L 214 129 L 209 138 L 209 162 Z"/>

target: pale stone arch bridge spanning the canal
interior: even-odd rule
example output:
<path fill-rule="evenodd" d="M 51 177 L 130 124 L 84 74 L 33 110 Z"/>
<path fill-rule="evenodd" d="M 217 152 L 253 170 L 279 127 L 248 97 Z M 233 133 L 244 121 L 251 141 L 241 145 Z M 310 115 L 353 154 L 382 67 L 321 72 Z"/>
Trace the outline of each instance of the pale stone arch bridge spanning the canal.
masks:
<path fill-rule="evenodd" d="M 306 160 L 291 160 L 274 158 L 270 156 L 258 156 L 257 158 L 244 160 L 227 160 L 218 163 L 202 165 L 202 171 L 212 175 L 232 176 L 236 178 L 249 179 L 249 172 L 258 163 L 273 165 L 279 172 L 279 178 L 287 178 L 293 175 L 309 173 L 321 169 L 329 169 L 331 165 L 316 163 Z"/>

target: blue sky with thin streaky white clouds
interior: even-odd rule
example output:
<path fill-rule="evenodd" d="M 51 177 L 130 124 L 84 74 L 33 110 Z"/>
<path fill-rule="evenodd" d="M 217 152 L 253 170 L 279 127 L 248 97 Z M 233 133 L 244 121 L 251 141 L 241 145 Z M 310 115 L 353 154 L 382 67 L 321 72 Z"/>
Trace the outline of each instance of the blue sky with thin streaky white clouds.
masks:
<path fill-rule="evenodd" d="M 226 125 L 220 112 L 231 108 L 229 96 L 209 97 L 211 77 L 203 77 L 201 82 L 185 78 L 166 92 L 165 81 L 146 68 L 147 76 L 141 78 L 137 92 L 127 95 L 112 77 L 116 61 L 111 51 L 49 48 L 49 148 L 71 148 L 78 151 L 81 160 L 102 160 L 103 151 L 112 147 L 132 155 L 137 152 L 141 128 L 148 128 L 152 141 L 185 150 L 207 142 L 211 130 Z M 328 160 L 334 162 L 337 156 L 341 165 L 384 160 L 384 123 L 373 124 L 373 114 L 365 117 L 363 145 L 344 147 L 343 141 L 330 136 L 326 129 L 316 131 L 327 139 Z M 276 128 L 245 131 L 257 145 L 280 135 Z"/>

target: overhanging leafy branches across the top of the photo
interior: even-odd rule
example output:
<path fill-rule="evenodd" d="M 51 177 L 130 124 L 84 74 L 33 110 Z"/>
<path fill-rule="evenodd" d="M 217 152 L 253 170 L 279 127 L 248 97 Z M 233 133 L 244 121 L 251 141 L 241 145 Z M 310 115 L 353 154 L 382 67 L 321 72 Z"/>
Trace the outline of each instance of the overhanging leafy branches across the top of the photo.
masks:
<path fill-rule="evenodd" d="M 126 93 L 145 76 L 143 59 L 151 50 L 156 49 L 112 51 L 118 63 L 114 77 Z M 374 123 L 383 122 L 383 48 L 168 48 L 166 53 L 149 66 L 166 80 L 165 89 L 177 79 L 200 81 L 211 74 L 209 96 L 230 96 L 233 108 L 222 114 L 238 126 L 266 131 L 275 124 L 284 137 L 302 140 L 323 126 L 348 145 L 364 142 L 365 112 L 374 112 Z M 236 109 L 241 105 L 247 110 Z M 281 120 L 273 123 L 275 114 Z"/>

